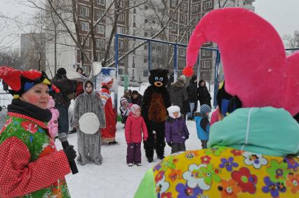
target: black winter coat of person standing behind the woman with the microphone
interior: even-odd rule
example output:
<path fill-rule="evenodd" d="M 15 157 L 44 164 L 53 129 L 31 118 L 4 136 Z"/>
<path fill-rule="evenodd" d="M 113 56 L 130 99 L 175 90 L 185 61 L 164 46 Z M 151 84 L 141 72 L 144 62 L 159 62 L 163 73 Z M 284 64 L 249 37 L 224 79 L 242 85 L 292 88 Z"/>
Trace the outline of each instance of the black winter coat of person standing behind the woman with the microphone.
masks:
<path fill-rule="evenodd" d="M 59 93 L 53 93 L 55 106 L 65 106 L 68 108 L 71 101 L 68 96 L 76 91 L 76 84 L 73 80 L 67 79 L 67 76 L 60 76 L 58 74 L 54 76 L 52 83 L 60 90 Z"/>

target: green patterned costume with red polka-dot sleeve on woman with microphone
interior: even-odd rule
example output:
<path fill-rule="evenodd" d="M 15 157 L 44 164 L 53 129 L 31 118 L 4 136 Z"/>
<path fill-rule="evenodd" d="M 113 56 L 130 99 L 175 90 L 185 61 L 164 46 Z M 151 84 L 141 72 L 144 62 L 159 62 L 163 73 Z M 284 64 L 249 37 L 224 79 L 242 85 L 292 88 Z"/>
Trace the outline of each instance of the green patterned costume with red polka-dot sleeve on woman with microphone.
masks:
<path fill-rule="evenodd" d="M 70 197 L 64 178 L 69 163 L 45 122 L 8 113 L 0 150 L 0 197 Z"/>

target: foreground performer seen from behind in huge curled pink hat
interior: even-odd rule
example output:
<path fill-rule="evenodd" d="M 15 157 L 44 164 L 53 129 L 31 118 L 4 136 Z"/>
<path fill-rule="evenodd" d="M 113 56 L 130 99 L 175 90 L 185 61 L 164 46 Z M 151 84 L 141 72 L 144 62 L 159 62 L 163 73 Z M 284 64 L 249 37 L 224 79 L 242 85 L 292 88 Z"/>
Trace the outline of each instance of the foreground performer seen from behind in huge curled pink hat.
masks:
<path fill-rule="evenodd" d="M 207 41 L 218 44 L 233 96 L 220 113 L 238 99 L 241 108 L 211 127 L 208 149 L 147 171 L 135 197 L 299 197 L 299 52 L 286 57 L 277 31 L 249 10 L 213 10 L 192 33 L 186 76 Z"/>

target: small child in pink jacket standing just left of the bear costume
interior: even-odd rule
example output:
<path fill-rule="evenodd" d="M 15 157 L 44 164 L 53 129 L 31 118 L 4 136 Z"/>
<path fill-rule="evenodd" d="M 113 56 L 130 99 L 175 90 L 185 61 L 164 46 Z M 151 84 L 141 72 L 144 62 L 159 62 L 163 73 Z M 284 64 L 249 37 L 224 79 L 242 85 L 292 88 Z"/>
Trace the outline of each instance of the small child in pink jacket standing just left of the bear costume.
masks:
<path fill-rule="evenodd" d="M 140 106 L 131 105 L 131 113 L 126 120 L 125 136 L 128 144 L 126 153 L 126 163 L 129 167 L 133 164 L 141 166 L 141 141 L 143 133 L 143 141 L 147 140 L 147 126 L 145 120 L 140 116 Z"/>

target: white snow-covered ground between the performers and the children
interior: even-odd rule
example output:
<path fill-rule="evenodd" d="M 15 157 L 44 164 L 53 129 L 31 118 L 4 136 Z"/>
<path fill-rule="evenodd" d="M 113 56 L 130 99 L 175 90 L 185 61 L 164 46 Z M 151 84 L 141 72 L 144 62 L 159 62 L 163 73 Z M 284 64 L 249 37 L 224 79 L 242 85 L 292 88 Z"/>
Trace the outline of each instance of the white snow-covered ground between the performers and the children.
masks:
<path fill-rule="evenodd" d="M 145 157 L 145 150 L 142 146 L 142 166 L 128 167 L 126 164 L 126 140 L 124 129 L 121 123 L 117 123 L 116 139 L 119 145 L 102 145 L 102 165 L 86 164 L 77 165 L 79 173 L 67 175 L 67 185 L 73 198 L 132 198 L 142 180 L 145 172 L 160 160 L 154 155 L 154 162 L 148 163 Z M 201 148 L 197 139 L 195 122 L 187 121 L 190 138 L 186 141 L 187 150 Z M 77 150 L 77 134 L 69 134 L 68 141 Z M 60 141 L 56 140 L 56 146 L 61 149 Z M 165 155 L 171 154 L 171 148 L 166 145 Z"/>

